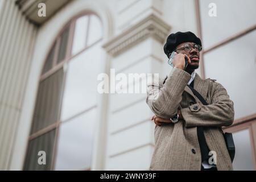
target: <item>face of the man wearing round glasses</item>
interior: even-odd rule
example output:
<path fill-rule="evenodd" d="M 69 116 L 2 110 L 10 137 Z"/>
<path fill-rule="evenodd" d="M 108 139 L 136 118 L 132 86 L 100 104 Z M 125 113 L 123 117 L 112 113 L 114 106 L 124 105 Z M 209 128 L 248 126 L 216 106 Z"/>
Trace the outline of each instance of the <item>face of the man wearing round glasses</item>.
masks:
<path fill-rule="evenodd" d="M 179 46 L 176 47 L 176 52 L 177 53 L 184 53 L 185 55 L 188 55 L 188 57 L 191 60 L 191 64 L 188 64 L 187 69 L 197 69 L 199 68 L 199 60 L 200 60 L 200 53 L 198 50 L 196 50 L 195 48 L 191 47 L 191 50 L 188 51 L 186 50 L 186 46 L 190 45 L 190 46 L 194 46 L 196 45 L 193 42 L 184 42 L 179 44 Z"/>

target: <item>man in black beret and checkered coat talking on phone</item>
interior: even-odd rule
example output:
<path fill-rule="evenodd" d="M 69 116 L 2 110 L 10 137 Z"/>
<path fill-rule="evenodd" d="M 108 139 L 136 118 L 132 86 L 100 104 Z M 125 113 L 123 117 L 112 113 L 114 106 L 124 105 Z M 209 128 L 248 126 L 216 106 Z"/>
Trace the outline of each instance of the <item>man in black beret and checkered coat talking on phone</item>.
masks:
<path fill-rule="evenodd" d="M 221 127 L 233 123 L 233 102 L 221 84 L 195 73 L 201 51 L 195 34 L 169 35 L 164 52 L 169 58 L 173 51 L 170 74 L 147 88 L 146 102 L 156 123 L 150 170 L 232 170 Z M 203 105 L 188 85 L 209 105 Z"/>

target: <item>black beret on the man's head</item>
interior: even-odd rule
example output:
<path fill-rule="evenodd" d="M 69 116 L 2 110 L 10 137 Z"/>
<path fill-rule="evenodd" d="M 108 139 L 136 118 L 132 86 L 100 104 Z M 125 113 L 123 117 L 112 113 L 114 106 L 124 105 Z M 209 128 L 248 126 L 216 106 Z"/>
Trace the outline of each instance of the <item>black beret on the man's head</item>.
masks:
<path fill-rule="evenodd" d="M 164 44 L 164 53 L 169 57 L 170 53 L 183 42 L 193 42 L 202 46 L 201 40 L 192 32 L 176 32 L 168 36 L 166 44 Z"/>

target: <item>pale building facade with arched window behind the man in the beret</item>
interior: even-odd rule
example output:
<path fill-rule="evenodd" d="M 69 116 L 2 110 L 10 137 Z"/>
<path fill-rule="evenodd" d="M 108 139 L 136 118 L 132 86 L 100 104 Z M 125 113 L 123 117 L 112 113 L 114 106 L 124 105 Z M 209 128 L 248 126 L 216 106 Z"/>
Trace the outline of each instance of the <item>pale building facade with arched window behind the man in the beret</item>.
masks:
<path fill-rule="evenodd" d="M 116 81 L 129 73 L 164 77 L 167 36 L 192 31 L 203 41 L 197 73 L 224 85 L 234 101 L 234 124 L 224 129 L 236 144 L 234 169 L 255 170 L 255 5 L 1 0 L 0 169 L 147 170 L 155 124 L 146 93 L 99 93 L 99 75 L 110 84 L 112 71 Z"/>

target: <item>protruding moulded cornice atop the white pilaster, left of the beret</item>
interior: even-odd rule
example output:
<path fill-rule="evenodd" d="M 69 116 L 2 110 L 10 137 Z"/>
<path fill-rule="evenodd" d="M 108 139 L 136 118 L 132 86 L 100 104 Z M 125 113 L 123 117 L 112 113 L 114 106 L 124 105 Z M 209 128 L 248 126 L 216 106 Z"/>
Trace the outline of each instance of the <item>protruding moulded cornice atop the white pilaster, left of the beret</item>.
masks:
<path fill-rule="evenodd" d="M 170 25 L 155 14 L 151 14 L 120 35 L 110 39 L 102 47 L 110 55 L 117 56 L 150 37 L 164 43 L 170 30 Z"/>

